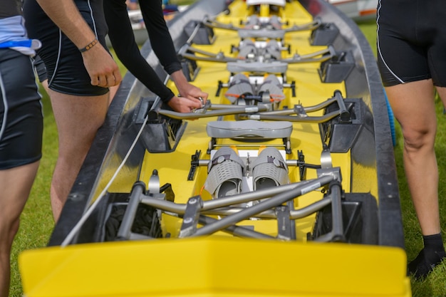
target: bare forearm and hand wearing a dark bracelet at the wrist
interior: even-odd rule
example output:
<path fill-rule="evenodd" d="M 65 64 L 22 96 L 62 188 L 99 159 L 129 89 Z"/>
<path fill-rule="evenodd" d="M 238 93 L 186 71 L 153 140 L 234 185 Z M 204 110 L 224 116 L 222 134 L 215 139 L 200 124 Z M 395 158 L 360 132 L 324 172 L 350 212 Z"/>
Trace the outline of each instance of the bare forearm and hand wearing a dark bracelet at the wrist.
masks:
<path fill-rule="evenodd" d="M 96 38 L 73 0 L 37 0 L 37 2 L 78 48 L 85 47 Z M 100 43 L 83 52 L 82 57 L 92 85 L 110 87 L 118 85 L 122 80 L 118 65 Z"/>

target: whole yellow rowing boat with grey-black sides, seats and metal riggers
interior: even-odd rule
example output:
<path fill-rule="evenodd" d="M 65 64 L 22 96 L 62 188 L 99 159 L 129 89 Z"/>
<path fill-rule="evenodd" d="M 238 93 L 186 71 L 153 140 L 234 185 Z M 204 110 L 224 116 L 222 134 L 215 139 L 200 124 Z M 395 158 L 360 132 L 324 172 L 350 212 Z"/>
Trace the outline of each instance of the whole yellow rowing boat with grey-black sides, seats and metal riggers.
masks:
<path fill-rule="evenodd" d="M 125 76 L 48 246 L 20 255 L 24 295 L 411 296 L 356 24 L 323 0 L 202 0 L 169 24 L 209 100 L 175 113 Z"/>

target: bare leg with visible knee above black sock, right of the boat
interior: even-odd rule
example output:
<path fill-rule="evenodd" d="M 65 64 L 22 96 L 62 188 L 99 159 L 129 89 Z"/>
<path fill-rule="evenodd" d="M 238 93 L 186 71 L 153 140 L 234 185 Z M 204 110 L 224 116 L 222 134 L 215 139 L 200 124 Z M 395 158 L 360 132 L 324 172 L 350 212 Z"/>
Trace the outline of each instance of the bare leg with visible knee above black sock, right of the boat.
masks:
<path fill-rule="evenodd" d="M 405 174 L 422 234 L 440 233 L 434 150 L 437 120 L 432 80 L 395 85 L 385 90 L 403 130 Z"/>

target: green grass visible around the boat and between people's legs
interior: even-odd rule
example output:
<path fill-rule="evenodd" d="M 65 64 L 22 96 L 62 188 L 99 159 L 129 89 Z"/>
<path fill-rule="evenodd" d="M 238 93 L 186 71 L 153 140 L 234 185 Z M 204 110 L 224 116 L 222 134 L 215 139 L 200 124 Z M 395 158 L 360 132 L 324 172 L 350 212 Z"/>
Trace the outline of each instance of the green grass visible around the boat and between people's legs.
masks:
<path fill-rule="evenodd" d="M 373 51 L 375 52 L 376 25 L 374 21 L 360 24 L 365 36 L 368 38 Z M 120 65 L 121 71 L 125 73 L 125 68 Z M 44 93 L 44 91 L 42 91 Z M 57 157 L 57 132 L 54 123 L 51 104 L 47 96 L 43 97 L 44 107 L 44 132 L 43 132 L 43 158 L 39 168 L 36 182 L 33 185 L 31 196 L 21 216 L 21 228 L 17 234 L 11 255 L 11 297 L 21 296 L 22 288 L 17 266 L 17 256 L 21 251 L 46 246 L 51 231 L 53 229 L 53 219 L 49 202 L 49 186 L 51 174 Z M 446 178 L 446 123 L 445 115 L 442 113 L 443 107 L 440 100 L 437 100 L 438 133 L 435 149 L 437 150 L 437 162 L 440 170 L 440 180 Z M 398 179 L 400 186 L 401 207 L 403 212 L 403 225 L 405 232 L 405 245 L 408 258 L 413 259 L 422 248 L 420 227 L 415 217 L 410 194 L 405 180 L 402 160 L 403 140 L 400 127 L 396 125 L 397 145 L 395 146 L 395 158 L 398 167 Z M 446 196 L 446 184 L 440 182 L 439 195 Z M 442 209 L 441 223 L 446 226 L 446 200 L 440 199 L 440 209 Z M 411 281 L 413 297 L 440 297 L 446 296 L 446 264 L 437 267 L 425 281 Z"/>

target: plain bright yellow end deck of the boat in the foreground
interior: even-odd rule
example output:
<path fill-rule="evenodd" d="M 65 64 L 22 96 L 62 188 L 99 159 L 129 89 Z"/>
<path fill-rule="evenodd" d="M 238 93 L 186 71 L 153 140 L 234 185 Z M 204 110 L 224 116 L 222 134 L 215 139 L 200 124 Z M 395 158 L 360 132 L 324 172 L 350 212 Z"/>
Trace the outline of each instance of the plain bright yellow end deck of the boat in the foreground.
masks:
<path fill-rule="evenodd" d="M 202 237 L 26 251 L 20 268 L 27 297 L 409 297 L 405 261 L 383 246 Z"/>

